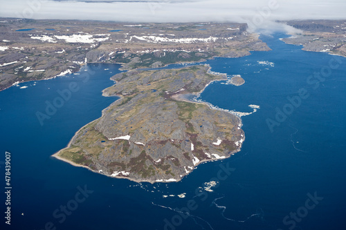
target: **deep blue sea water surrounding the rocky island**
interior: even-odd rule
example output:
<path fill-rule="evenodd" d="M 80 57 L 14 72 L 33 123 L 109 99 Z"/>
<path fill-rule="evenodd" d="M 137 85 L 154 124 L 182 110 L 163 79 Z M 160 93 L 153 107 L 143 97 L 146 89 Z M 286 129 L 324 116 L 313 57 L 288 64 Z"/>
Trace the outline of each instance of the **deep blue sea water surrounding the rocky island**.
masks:
<path fill-rule="evenodd" d="M 8 151 L 12 165 L 11 225 L 2 218 L 1 226 L 345 229 L 346 59 L 284 44 L 284 36 L 262 36 L 268 52 L 206 61 L 212 71 L 241 75 L 246 83 L 214 82 L 201 100 L 243 113 L 253 112 L 249 105 L 260 108 L 242 117 L 241 152 L 201 164 L 178 183 L 107 178 L 51 157 L 117 99 L 101 90 L 113 84 L 109 77 L 119 65 L 89 64 L 80 75 L 1 91 L 0 160 Z M 46 113 L 47 104 L 56 111 L 41 124 L 37 112 Z M 211 181 L 216 186 L 205 189 Z"/>

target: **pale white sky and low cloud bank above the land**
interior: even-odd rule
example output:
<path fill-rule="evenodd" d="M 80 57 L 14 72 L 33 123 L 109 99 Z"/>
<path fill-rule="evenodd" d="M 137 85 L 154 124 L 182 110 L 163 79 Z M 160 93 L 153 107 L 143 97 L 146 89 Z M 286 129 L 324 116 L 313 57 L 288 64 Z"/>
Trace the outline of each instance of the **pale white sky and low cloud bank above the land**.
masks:
<path fill-rule="evenodd" d="M 241 22 L 346 19 L 346 0 L 0 0 L 0 17 L 120 22 Z"/>

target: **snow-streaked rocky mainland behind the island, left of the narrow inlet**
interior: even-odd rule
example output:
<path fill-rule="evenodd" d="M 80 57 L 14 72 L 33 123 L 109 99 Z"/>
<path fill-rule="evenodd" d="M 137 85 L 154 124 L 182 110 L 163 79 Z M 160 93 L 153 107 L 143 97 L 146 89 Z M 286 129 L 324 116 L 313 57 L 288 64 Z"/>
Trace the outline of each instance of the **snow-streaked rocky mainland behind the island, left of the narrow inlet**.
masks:
<path fill-rule="evenodd" d="M 0 90 L 16 82 L 78 72 L 86 63 L 124 70 L 242 57 L 269 50 L 244 23 L 148 23 L 8 19 L 0 21 Z"/>

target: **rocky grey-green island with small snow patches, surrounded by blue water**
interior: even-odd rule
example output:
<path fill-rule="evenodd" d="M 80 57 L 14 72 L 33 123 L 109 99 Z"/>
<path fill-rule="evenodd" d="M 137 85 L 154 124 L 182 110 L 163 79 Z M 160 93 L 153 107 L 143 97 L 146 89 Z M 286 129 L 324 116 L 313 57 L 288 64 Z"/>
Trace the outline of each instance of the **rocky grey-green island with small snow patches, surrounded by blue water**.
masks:
<path fill-rule="evenodd" d="M 135 181 L 179 181 L 203 161 L 229 157 L 244 141 L 238 117 L 206 104 L 176 100 L 212 80 L 208 66 L 113 76 L 104 95 L 122 98 L 84 126 L 58 154 L 105 175 Z"/>

